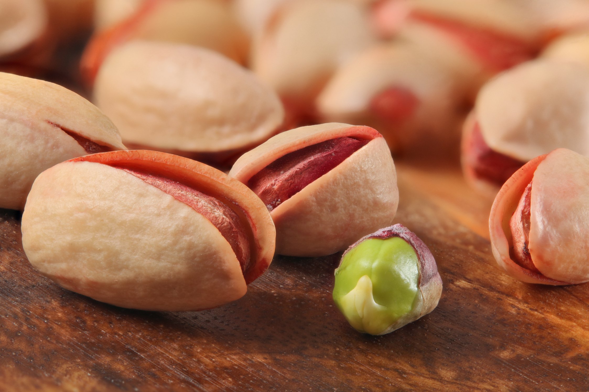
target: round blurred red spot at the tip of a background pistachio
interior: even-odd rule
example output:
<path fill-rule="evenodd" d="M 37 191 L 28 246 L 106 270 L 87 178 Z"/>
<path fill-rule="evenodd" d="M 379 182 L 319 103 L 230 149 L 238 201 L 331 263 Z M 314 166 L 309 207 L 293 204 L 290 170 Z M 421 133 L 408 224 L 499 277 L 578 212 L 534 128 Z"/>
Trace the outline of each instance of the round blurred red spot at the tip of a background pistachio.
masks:
<path fill-rule="evenodd" d="M 392 86 L 377 95 L 369 103 L 369 110 L 383 120 L 402 122 L 415 114 L 419 99 L 406 88 Z"/>

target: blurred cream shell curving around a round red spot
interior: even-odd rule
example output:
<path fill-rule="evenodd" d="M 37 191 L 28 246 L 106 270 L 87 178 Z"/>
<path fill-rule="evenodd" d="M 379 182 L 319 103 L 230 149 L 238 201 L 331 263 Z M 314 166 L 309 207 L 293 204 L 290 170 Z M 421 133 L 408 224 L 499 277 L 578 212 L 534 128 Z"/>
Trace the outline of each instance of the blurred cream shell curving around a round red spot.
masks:
<path fill-rule="evenodd" d="M 317 98 L 317 108 L 326 120 L 352 121 L 370 116 L 370 101 L 378 93 L 398 87 L 419 100 L 411 119 L 416 127 L 444 128 L 478 71 L 454 49 L 440 35 L 367 49 L 335 73 Z"/>

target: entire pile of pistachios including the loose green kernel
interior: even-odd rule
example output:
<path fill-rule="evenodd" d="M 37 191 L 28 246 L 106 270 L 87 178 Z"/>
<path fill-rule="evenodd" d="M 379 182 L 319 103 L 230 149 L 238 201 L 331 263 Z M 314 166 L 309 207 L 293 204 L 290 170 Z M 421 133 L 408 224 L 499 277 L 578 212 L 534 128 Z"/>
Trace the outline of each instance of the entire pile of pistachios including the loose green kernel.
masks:
<path fill-rule="evenodd" d="M 134 309 L 345 251 L 333 300 L 385 334 L 442 292 L 391 150 L 461 145 L 499 265 L 587 282 L 588 32 L 584 0 L 0 0 L 0 208 L 40 273 Z"/>

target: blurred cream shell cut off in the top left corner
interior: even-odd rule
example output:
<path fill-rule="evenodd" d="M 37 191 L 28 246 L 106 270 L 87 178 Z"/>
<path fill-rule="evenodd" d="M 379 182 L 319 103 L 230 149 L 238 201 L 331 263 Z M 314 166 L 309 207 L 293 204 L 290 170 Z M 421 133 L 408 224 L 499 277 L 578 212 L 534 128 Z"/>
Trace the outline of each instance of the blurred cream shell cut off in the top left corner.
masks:
<path fill-rule="evenodd" d="M 0 0 L 0 56 L 27 48 L 47 28 L 42 0 Z"/>

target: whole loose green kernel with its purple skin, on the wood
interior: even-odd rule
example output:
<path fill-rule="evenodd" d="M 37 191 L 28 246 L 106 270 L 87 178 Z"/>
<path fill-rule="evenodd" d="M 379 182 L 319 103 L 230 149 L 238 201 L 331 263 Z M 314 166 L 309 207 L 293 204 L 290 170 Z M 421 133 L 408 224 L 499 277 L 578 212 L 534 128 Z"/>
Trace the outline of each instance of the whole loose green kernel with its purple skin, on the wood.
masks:
<path fill-rule="evenodd" d="M 399 329 L 434 310 L 441 294 L 434 256 L 402 225 L 360 239 L 335 271 L 333 300 L 362 333 Z"/>

